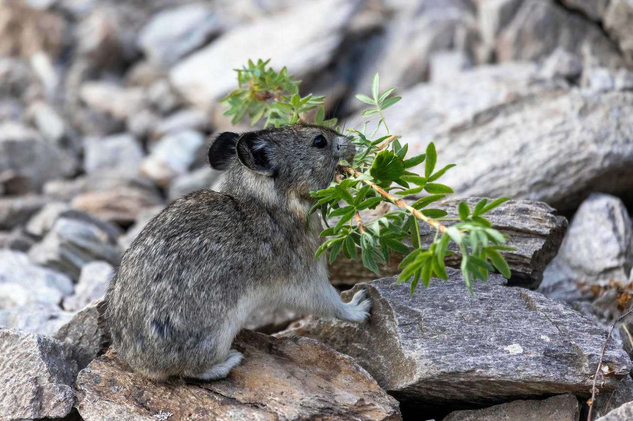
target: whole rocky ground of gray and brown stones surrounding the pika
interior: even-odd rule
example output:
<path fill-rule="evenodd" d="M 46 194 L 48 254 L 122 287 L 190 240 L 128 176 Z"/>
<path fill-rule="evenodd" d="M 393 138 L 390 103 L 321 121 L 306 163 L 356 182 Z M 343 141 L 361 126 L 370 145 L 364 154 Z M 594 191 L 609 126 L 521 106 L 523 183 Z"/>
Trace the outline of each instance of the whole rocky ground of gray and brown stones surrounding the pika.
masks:
<path fill-rule="evenodd" d="M 397 86 L 392 133 L 458 164 L 438 207 L 515 199 L 490 215 L 512 278 L 471 298 L 449 269 L 409 296 L 336 260 L 368 324 L 253 315 L 216 382 L 120 363 L 108 277 L 151 217 L 215 182 L 206 139 L 246 130 L 217 100 L 249 58 L 288 66 L 345 127 L 375 71 Z M 585 419 L 633 303 L 631 116 L 629 0 L 0 1 L 0 418 Z M 592 418 L 632 417 L 632 354 L 629 315 Z"/>

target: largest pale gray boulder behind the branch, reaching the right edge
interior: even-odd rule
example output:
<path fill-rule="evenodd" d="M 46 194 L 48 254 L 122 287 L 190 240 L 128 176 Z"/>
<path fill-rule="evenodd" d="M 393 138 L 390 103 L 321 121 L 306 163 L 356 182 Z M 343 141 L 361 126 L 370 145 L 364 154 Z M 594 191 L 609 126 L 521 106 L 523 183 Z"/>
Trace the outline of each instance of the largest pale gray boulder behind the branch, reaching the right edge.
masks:
<path fill-rule="evenodd" d="M 590 192 L 633 188 L 633 92 L 587 92 L 543 80 L 532 63 L 505 63 L 401 95 L 389 109 L 391 133 L 410 156 L 434 142 L 437 168 L 457 164 L 440 181 L 462 197 L 539 200 L 568 212 Z"/>

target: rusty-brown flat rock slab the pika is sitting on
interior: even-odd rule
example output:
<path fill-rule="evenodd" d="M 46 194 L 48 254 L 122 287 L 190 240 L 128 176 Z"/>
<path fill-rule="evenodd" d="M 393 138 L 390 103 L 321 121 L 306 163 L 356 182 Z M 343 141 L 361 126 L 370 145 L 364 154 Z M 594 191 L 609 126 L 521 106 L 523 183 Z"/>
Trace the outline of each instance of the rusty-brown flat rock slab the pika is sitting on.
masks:
<path fill-rule="evenodd" d="M 86 421 L 401 420 L 398 401 L 353 358 L 313 339 L 242 331 L 234 348 L 244 361 L 215 382 L 149 381 L 110 350 L 78 375 L 75 406 Z"/>

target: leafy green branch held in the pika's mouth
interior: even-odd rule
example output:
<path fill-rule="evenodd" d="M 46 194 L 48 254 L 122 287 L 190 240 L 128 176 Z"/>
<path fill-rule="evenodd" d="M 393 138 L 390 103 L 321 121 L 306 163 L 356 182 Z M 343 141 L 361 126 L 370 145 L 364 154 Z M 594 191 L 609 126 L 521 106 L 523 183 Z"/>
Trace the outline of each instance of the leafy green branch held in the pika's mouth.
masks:
<path fill-rule="evenodd" d="M 318 107 L 313 122 L 318 125 L 335 125 L 335 119 L 324 120 L 324 97 L 299 95 L 299 81 L 287 75 L 283 68 L 279 73 L 266 68 L 268 61 L 252 61 L 237 71 L 239 88 L 222 99 L 229 106 L 225 113 L 239 123 L 248 115 L 251 125 L 265 119 L 265 126 L 284 125 L 302 121 L 308 123 L 306 113 Z M 315 204 L 310 213 L 320 210 L 327 226 L 320 234 L 328 237 L 316 250 L 316 257 L 329 251 L 330 263 L 342 253 L 348 259 L 360 259 L 363 265 L 379 274 L 379 264 L 389 262 L 392 253 L 401 253 L 404 259 L 399 265 L 401 273 L 398 283 L 410 283 L 411 293 L 422 281 L 424 286 L 430 278 L 448 279 L 444 258 L 453 253 L 448 249 L 453 241 L 461 253 L 461 272 L 468 291 L 472 294 L 475 279 L 486 281 L 489 272 L 495 269 L 510 278 L 510 269 L 500 251 L 513 250 L 505 245 L 508 236 L 496 229 L 484 214 L 498 207 L 508 198 L 489 202 L 484 198 L 471 210 L 465 202 L 458 205 L 458 219 L 446 218 L 447 212 L 429 208 L 453 190 L 437 180 L 453 168 L 449 164 L 437 169 L 437 153 L 434 143 L 429 143 L 425 153 L 406 158 L 408 144 L 401 143 L 387 127 L 383 111 L 401 97 L 390 97 L 396 88 L 380 93 L 379 75 L 372 80 L 372 97 L 358 94 L 356 98 L 371 107 L 362 112 L 370 118 L 378 115 L 373 130 L 368 130 L 366 121 L 361 130 L 348 129 L 348 137 L 356 144 L 357 152 L 351 162 L 341 161 L 344 169 L 328 188 L 311 192 Z M 387 135 L 378 136 L 380 126 Z M 337 128 L 339 131 L 339 128 Z M 420 168 L 423 176 L 413 172 Z M 410 204 L 407 200 L 414 196 Z M 419 197 L 424 195 L 423 197 Z M 391 204 L 391 210 L 372 221 L 363 221 L 362 212 L 376 209 L 381 202 Z M 334 226 L 329 221 L 337 221 Z M 430 245 L 422 243 L 420 221 L 435 229 Z M 450 221 L 449 225 L 444 221 Z"/>

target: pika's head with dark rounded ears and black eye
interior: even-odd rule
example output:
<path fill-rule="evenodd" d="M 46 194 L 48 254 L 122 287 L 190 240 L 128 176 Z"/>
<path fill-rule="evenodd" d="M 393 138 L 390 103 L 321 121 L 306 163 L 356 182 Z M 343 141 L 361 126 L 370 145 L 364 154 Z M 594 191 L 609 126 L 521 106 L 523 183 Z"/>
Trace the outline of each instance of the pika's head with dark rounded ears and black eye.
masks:
<path fill-rule="evenodd" d="M 291 125 L 225 132 L 209 147 L 209 164 L 218 170 L 246 169 L 245 176 L 267 177 L 275 189 L 298 197 L 326 188 L 341 159 L 351 159 L 356 148 L 349 138 L 322 126 Z"/>

